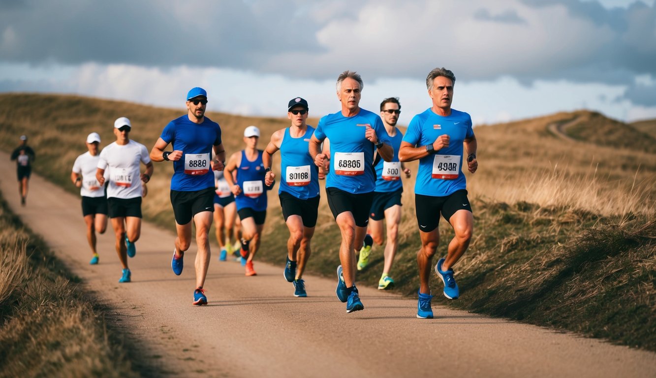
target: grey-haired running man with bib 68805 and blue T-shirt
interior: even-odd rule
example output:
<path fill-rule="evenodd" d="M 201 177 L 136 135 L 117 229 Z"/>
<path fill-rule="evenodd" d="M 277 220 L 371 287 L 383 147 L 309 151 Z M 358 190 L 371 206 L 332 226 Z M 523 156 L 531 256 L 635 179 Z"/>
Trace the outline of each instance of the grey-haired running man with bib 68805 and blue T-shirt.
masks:
<path fill-rule="evenodd" d="M 380 117 L 359 107 L 362 78 L 344 71 L 337 77 L 340 112 L 322 117 L 310 140 L 310 156 L 323 167 L 327 154 L 321 142 L 330 140 L 331 167 L 326 177 L 326 197 L 342 234 L 337 267 L 337 298 L 346 302 L 346 312 L 363 310 L 356 288 L 356 250 L 367 232 L 369 209 L 375 188 L 374 150 L 385 161 L 392 160 L 392 147 Z"/>

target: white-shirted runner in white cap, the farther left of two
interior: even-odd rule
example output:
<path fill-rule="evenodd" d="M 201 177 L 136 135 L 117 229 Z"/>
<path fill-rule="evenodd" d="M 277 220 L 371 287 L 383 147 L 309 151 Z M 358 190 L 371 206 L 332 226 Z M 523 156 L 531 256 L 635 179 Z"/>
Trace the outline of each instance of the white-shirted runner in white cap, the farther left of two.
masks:
<path fill-rule="evenodd" d="M 98 251 L 96 250 L 96 232 L 104 234 L 107 229 L 107 195 L 104 186 L 96 180 L 98 169 L 98 146 L 100 135 L 91 133 L 87 136 L 87 152 L 81 154 L 73 163 L 71 180 L 75 187 L 80 188 L 82 196 L 82 215 L 87 224 L 87 241 L 91 247 L 91 261 L 89 264 L 98 264 Z M 109 171 L 105 172 L 105 180 Z"/>

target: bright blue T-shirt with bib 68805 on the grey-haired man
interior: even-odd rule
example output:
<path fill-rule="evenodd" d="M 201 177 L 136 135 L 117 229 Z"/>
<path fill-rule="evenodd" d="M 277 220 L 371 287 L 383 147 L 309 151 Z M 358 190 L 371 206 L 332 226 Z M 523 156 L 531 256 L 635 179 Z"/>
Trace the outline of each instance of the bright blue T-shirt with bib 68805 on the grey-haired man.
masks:
<path fill-rule="evenodd" d="M 321 117 L 314 136 L 330 140 L 331 167 L 326 188 L 338 188 L 359 194 L 375 188 L 373 143 L 365 138 L 365 125 L 371 126 L 381 142 L 390 144 L 378 114 L 360 108 L 358 114 L 344 117 L 341 112 Z"/>

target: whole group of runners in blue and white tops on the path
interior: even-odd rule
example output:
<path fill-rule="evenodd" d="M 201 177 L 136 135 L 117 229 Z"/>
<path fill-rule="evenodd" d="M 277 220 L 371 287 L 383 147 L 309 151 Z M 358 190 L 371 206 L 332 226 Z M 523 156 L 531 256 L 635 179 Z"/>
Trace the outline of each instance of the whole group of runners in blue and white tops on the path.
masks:
<path fill-rule="evenodd" d="M 276 182 L 272 160 L 280 151 L 278 197 L 289 228 L 285 280 L 293 283 L 296 297 L 307 296 L 302 275 L 311 254 L 318 217 L 318 180 L 325 177 L 327 201 L 341 234 L 336 294 L 346 303 L 346 312 L 363 310 L 356 271 L 367 267 L 373 243 L 383 244 L 383 221 L 386 246 L 379 289 L 394 287 L 390 271 L 401 221 L 401 175 L 411 177 L 403 162 L 419 160 L 415 180 L 421 240 L 417 253 L 417 317 L 432 318 L 429 278 L 439 243 L 440 213 L 455 231 L 447 255 L 434 268 L 449 299 L 459 297 L 453 265 L 467 249 L 473 231 L 462 166 L 466 165 L 471 173 L 476 171 L 478 145 L 471 117 L 451 108 L 454 83 L 455 75 L 445 68 L 428 74 L 426 87 L 432 106 L 413 117 L 403 135 L 396 127 L 401 112 L 398 98 L 385 98 L 380 114 L 360 108 L 363 81 L 356 72 L 345 71 L 337 78 L 340 111 L 321 117 L 315 129 L 306 123 L 308 102 L 293 98 L 287 108 L 290 127 L 274 132 L 264 150 L 257 148 L 260 130 L 247 127 L 243 133 L 245 148 L 232 154 L 227 162 L 220 126 L 205 116 L 208 97 L 204 89 L 195 87 L 188 92 L 187 114 L 164 127 L 150 154 L 144 145 L 130 140 L 131 121 L 120 117 L 114 123 L 115 142 L 98 153 L 100 136 L 91 133 L 87 137 L 88 152 L 76 159 L 71 175 L 73 183 L 81 188 L 87 238 L 93 253 L 91 264 L 99 260 L 95 232 L 102 234 L 106 230 L 108 215 L 123 265 L 119 282 L 131 281 L 127 257 L 136 254 L 141 200 L 153 173 L 152 162 L 171 161 L 171 203 L 177 230 L 171 268 L 176 275 L 182 273 L 184 255 L 192 241 L 193 221 L 198 249 L 193 304 L 207 304 L 204 285 L 213 220 L 221 246 L 219 260 L 226 261 L 228 254 L 237 254 L 232 236 L 237 234 L 235 213 L 239 215 L 239 258 L 245 265 L 245 274 L 255 276 L 253 257 L 260 246 L 266 219 L 266 191 Z M 171 150 L 167 150 L 169 144 Z M 140 164 L 146 166 L 144 173 L 140 173 Z M 21 194 L 25 198 L 26 189 Z"/>

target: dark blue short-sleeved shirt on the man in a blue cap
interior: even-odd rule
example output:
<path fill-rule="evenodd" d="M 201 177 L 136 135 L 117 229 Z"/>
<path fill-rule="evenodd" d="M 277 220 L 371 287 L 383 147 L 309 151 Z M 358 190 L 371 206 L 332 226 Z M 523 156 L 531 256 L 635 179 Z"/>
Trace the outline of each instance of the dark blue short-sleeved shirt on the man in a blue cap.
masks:
<path fill-rule="evenodd" d="M 214 174 L 210 166 L 212 146 L 221 144 L 221 128 L 205 117 L 201 124 L 189 120 L 188 115 L 169 122 L 160 135 L 171 143 L 173 150 L 182 151 L 182 158 L 173 162 L 171 190 L 193 192 L 214 188 Z"/>

